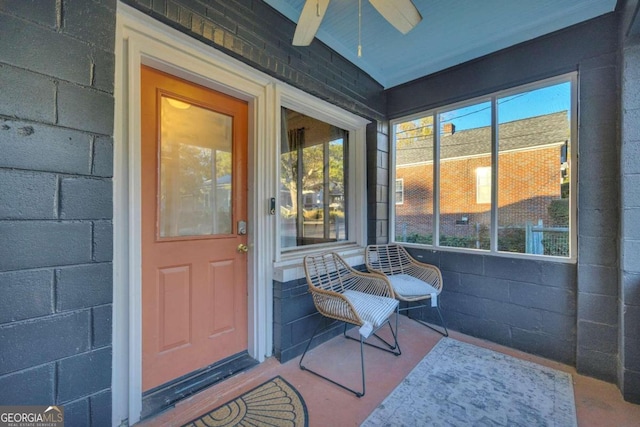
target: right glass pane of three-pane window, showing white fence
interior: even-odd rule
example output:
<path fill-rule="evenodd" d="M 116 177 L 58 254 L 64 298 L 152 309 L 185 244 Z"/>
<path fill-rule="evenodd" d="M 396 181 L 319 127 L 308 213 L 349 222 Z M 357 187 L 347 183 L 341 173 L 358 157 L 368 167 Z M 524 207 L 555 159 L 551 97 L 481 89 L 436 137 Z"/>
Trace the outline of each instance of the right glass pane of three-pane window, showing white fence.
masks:
<path fill-rule="evenodd" d="M 498 99 L 498 249 L 569 256 L 571 84 Z"/>

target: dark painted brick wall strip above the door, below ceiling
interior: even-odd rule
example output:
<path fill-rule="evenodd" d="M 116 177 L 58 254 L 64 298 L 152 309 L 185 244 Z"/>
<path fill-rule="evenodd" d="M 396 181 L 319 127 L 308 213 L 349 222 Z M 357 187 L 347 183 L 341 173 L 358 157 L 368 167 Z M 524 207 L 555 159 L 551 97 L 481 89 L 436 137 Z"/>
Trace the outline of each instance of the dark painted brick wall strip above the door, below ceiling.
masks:
<path fill-rule="evenodd" d="M 367 118 L 385 116 L 382 86 L 314 40 L 291 45 L 295 24 L 261 0 L 124 0 L 185 34 Z"/>

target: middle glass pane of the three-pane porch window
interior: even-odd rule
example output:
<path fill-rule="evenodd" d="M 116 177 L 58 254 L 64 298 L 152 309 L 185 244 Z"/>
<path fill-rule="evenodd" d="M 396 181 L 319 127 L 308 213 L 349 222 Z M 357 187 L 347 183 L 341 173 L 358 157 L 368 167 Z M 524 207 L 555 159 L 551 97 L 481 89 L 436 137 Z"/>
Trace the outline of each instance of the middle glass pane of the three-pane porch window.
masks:
<path fill-rule="evenodd" d="M 490 249 L 491 103 L 440 114 L 440 246 Z"/>

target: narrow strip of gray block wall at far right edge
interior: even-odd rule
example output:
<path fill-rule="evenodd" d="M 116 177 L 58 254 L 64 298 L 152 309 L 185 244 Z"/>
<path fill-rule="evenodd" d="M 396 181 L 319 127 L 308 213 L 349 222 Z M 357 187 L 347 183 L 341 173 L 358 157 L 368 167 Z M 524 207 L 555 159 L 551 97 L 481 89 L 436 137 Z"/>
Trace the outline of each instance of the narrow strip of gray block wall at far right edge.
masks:
<path fill-rule="evenodd" d="M 640 403 L 640 22 L 634 24 L 623 34 L 621 67 L 619 381 L 625 399 Z"/>

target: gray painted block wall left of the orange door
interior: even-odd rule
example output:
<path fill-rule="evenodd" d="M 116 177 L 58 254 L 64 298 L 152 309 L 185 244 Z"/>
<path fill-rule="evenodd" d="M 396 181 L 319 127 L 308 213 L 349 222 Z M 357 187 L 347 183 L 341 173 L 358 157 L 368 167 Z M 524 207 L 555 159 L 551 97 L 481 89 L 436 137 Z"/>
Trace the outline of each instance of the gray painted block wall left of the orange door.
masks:
<path fill-rule="evenodd" d="M 111 424 L 115 0 L 0 2 L 0 404 Z"/>

